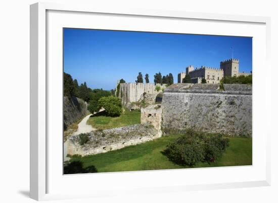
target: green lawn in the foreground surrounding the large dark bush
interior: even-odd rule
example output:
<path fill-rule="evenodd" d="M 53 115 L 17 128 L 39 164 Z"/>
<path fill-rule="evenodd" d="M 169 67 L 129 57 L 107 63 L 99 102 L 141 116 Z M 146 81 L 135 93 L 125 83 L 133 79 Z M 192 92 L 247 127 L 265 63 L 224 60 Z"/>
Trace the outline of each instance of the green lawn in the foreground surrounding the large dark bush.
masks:
<path fill-rule="evenodd" d="M 174 164 L 161 152 L 179 135 L 158 138 L 140 145 L 128 146 L 107 153 L 73 156 L 70 161 L 81 161 L 83 168 L 96 168 L 98 172 L 141 171 L 187 168 Z M 199 163 L 200 167 L 252 165 L 252 138 L 230 138 L 230 146 L 215 163 Z"/>

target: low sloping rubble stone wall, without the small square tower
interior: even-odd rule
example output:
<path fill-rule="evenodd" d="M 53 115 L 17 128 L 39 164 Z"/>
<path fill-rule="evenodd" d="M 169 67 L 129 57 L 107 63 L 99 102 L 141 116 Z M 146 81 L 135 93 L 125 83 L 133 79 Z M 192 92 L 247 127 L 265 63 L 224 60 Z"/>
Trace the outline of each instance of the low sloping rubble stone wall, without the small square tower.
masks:
<path fill-rule="evenodd" d="M 105 153 L 126 146 L 144 143 L 161 136 L 151 124 L 136 124 L 108 130 L 97 130 L 87 134 L 89 141 L 80 145 L 79 135 L 68 138 L 67 153 L 89 155 Z"/>

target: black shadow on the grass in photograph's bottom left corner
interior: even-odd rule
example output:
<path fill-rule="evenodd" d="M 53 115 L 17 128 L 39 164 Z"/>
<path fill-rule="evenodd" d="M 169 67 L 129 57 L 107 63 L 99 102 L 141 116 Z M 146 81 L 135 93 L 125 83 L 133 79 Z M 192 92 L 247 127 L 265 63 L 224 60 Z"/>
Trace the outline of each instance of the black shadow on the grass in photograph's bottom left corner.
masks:
<path fill-rule="evenodd" d="M 84 168 L 81 161 L 67 161 L 64 164 L 64 174 L 84 174 L 84 173 L 97 173 L 98 170 L 95 166 Z"/>

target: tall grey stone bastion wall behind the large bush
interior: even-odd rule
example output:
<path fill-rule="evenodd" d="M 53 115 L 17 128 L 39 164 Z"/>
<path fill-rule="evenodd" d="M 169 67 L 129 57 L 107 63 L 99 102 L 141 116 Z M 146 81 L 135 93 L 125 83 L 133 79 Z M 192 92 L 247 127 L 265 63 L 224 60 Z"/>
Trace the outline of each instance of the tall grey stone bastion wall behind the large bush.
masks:
<path fill-rule="evenodd" d="M 165 133 L 194 129 L 231 136 L 252 136 L 252 86 L 173 84 L 164 90 Z"/>

